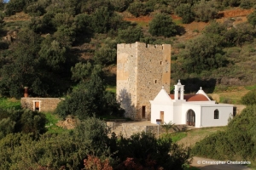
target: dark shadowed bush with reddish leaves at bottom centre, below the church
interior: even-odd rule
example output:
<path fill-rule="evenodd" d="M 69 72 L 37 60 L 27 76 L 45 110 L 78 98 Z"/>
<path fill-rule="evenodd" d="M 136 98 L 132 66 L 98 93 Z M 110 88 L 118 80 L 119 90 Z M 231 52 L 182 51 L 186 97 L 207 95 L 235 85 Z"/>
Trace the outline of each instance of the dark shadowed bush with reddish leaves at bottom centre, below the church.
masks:
<path fill-rule="evenodd" d="M 156 139 L 153 133 L 135 133 L 129 139 L 117 141 L 116 155 L 122 162 L 118 169 L 147 167 L 148 169 L 182 169 L 189 159 L 189 149 L 181 149 L 171 139 Z M 171 154 L 170 154 L 171 153 Z"/>

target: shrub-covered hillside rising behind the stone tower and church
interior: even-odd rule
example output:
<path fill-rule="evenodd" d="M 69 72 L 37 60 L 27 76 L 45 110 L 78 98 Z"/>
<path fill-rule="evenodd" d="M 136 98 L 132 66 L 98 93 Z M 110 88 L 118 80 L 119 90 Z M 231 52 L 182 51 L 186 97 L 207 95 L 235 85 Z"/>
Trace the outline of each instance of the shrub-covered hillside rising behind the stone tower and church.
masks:
<path fill-rule="evenodd" d="M 183 23 L 207 22 L 221 17 L 220 10 L 238 6 L 253 8 L 255 2 L 10 0 L 1 3 L 0 32 L 8 40 L 0 42 L 0 94 L 20 98 L 23 88 L 29 87 L 31 96 L 65 95 L 78 83 L 72 78 L 72 67 L 88 60 L 102 68 L 115 65 L 116 44 L 136 41 L 172 43 L 174 82 L 182 79 L 189 87 L 194 83 L 189 79 L 197 77 L 206 81 L 215 79 L 215 85 L 229 86 L 231 79 L 236 79 L 235 85 L 252 84 L 256 80 L 248 82 L 247 76 L 251 69 L 244 73 L 241 70 L 244 65 L 238 63 L 241 58 L 246 61 L 254 55 L 254 13 L 248 16 L 250 25 L 234 25 L 233 19 L 223 24 L 213 22 L 212 27 L 189 42 L 175 37 L 182 36 L 185 29 L 171 18 L 171 14 L 177 14 Z M 19 20 L 20 12 L 26 13 L 26 20 Z M 147 26 L 140 26 L 124 20 L 125 13 L 135 17 L 150 14 L 153 20 Z M 9 20 L 12 17 L 15 20 Z M 114 79 L 106 75 L 103 79 L 115 86 Z"/>

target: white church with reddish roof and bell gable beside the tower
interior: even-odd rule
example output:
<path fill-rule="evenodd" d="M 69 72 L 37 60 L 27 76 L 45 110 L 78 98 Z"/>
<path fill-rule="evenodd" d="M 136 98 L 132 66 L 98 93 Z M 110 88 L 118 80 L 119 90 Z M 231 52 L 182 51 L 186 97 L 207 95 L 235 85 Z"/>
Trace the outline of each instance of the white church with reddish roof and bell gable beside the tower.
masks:
<path fill-rule="evenodd" d="M 172 122 L 195 127 L 226 126 L 233 117 L 233 105 L 216 104 L 200 88 L 196 94 L 184 94 L 180 81 L 174 85 L 174 94 L 167 94 L 164 88 L 151 104 L 151 123 Z"/>

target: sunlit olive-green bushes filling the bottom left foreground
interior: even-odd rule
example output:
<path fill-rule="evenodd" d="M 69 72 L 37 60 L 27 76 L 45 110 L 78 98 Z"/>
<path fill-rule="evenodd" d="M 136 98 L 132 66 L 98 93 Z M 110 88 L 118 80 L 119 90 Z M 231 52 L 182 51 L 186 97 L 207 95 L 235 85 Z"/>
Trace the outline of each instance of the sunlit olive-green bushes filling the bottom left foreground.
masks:
<path fill-rule="evenodd" d="M 9 134 L 0 140 L 0 169 L 82 169 L 88 155 L 113 162 L 108 133 L 106 123 L 92 117 L 72 131 L 38 140 L 31 134 Z"/>

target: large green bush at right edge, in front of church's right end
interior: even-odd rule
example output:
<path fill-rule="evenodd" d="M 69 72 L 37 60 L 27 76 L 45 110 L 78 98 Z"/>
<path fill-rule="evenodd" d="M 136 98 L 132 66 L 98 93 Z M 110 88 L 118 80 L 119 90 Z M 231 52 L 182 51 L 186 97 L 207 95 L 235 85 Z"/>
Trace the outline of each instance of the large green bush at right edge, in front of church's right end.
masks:
<path fill-rule="evenodd" d="M 196 156 L 218 160 L 255 161 L 256 156 L 256 106 L 247 106 L 235 116 L 227 130 L 210 135 L 195 144 Z"/>

